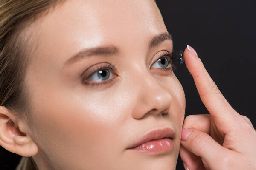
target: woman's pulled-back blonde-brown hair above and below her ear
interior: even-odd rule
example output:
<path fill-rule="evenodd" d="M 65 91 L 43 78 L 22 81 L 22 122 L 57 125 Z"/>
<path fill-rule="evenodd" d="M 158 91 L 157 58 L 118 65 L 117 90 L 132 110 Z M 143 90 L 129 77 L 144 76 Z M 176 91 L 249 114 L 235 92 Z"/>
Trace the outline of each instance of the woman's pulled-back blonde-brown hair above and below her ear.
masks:
<path fill-rule="evenodd" d="M 30 52 L 25 30 L 59 1 L 0 0 L 0 106 L 13 114 L 24 116 L 31 109 L 24 82 Z M 32 158 L 22 157 L 17 170 L 35 170 L 34 164 Z"/>

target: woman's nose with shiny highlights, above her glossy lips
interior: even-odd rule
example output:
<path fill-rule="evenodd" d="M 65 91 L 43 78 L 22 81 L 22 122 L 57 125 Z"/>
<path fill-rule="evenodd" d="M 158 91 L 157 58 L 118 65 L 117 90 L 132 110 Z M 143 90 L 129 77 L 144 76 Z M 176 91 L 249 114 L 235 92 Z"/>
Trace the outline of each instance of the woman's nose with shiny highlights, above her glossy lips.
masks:
<path fill-rule="evenodd" d="M 160 84 L 159 78 L 149 72 L 143 75 L 137 73 L 133 81 L 136 81 L 134 86 L 136 90 L 133 91 L 135 96 L 132 116 L 134 119 L 142 119 L 149 115 L 161 116 L 169 111 L 172 96 L 166 89 L 166 85 Z"/>

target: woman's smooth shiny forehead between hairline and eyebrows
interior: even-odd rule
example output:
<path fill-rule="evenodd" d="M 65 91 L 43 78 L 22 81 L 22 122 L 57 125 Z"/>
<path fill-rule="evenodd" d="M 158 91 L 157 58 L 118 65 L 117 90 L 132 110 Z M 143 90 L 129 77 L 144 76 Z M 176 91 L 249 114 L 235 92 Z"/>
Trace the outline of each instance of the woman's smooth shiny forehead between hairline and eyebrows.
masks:
<path fill-rule="evenodd" d="M 67 0 L 34 25 L 37 67 L 39 62 L 64 63 L 83 48 L 136 49 L 167 31 L 153 0 Z"/>

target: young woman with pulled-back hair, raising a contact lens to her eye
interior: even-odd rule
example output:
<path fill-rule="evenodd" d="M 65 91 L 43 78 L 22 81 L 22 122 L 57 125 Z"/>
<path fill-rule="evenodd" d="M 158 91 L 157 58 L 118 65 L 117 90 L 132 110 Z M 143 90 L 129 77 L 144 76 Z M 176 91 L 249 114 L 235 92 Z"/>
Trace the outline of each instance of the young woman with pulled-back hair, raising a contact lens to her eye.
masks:
<path fill-rule="evenodd" d="M 253 126 L 225 102 L 190 46 L 185 62 L 212 118 L 183 125 L 172 37 L 153 0 L 9 0 L 0 11 L 0 145 L 30 157 L 31 168 L 175 170 L 180 151 L 190 170 L 218 169 L 215 149 L 232 161 L 238 150 L 244 160 L 236 162 L 256 167 Z M 239 150 L 244 144 L 230 140 L 245 129 L 251 146 Z"/>

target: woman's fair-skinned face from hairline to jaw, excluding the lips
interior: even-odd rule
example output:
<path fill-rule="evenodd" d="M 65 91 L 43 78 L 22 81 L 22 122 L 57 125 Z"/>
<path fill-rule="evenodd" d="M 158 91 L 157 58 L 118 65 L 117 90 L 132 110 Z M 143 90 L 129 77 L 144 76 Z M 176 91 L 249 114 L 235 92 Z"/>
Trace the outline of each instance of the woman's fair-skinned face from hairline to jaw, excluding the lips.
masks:
<path fill-rule="evenodd" d="M 154 1 L 68 0 L 33 24 L 26 81 L 39 169 L 174 170 L 185 97 L 157 61 L 172 40 L 156 39 L 167 30 Z M 164 127 L 175 131 L 169 152 L 127 150 Z"/>

